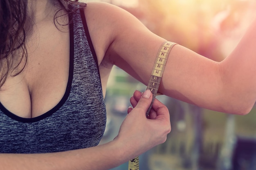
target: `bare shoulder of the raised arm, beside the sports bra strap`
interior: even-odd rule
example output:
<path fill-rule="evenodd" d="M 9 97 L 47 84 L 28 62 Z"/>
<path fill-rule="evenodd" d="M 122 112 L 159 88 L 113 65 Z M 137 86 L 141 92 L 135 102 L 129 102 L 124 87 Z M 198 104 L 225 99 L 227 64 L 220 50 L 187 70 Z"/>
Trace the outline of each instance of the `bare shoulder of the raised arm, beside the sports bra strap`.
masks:
<path fill-rule="evenodd" d="M 107 2 L 88 2 L 84 13 L 99 64 L 106 57 L 110 44 L 137 20 L 128 11 Z"/>

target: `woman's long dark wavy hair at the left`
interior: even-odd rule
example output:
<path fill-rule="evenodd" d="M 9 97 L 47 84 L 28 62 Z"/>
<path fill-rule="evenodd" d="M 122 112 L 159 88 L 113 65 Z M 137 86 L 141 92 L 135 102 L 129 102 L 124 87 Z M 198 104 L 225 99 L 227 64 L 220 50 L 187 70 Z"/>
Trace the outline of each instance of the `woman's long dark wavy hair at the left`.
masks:
<path fill-rule="evenodd" d="M 57 13 L 65 10 L 72 12 L 70 4 L 86 4 L 78 0 L 57 0 L 59 9 L 54 15 L 54 23 L 59 24 Z M 74 9 L 73 9 L 74 10 Z M 70 24 L 72 21 L 69 21 Z M 26 35 L 29 34 L 31 22 L 27 16 L 27 0 L 1 0 L 0 1 L 0 87 L 8 75 L 16 76 L 24 70 L 27 63 L 27 50 L 25 46 Z"/>

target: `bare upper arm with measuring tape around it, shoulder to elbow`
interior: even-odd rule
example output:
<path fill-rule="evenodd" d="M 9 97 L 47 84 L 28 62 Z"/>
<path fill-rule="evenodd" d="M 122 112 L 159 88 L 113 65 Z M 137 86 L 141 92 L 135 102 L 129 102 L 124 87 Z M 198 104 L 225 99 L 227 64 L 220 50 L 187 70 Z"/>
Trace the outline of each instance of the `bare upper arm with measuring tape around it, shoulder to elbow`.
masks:
<path fill-rule="evenodd" d="M 111 40 L 103 58 L 147 84 L 159 47 L 166 40 L 127 11 L 104 5 L 106 11 L 101 16 L 111 23 L 106 27 Z M 180 45 L 172 48 L 159 92 L 207 109 L 226 111 L 223 103 L 228 99 L 223 89 L 220 63 Z"/>

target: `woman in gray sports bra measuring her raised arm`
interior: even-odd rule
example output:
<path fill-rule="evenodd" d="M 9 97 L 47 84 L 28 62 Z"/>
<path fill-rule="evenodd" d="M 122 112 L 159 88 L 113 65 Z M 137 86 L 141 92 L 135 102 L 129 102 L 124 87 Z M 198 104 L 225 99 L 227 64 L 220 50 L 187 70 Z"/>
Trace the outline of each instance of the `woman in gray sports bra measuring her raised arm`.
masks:
<path fill-rule="evenodd" d="M 112 66 L 147 84 L 165 39 L 106 3 L 3 0 L 1 11 L 0 168 L 109 169 L 166 140 L 168 110 L 155 100 L 146 118 L 152 100 L 146 90 L 134 93 L 134 109 L 118 136 L 97 146 Z M 248 113 L 256 96 L 255 26 L 220 63 L 175 45 L 159 92 L 207 109 Z"/>

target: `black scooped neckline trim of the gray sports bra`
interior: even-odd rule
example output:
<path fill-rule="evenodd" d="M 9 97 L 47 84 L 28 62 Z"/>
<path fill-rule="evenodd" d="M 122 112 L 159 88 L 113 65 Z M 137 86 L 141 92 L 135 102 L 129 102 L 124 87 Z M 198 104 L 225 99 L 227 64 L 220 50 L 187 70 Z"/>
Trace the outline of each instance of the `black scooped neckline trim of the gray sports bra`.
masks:
<path fill-rule="evenodd" d="M 72 21 L 72 15 L 73 13 L 69 14 L 69 20 Z M 68 96 L 70 95 L 70 90 L 71 90 L 71 85 L 72 85 L 72 80 L 73 80 L 73 72 L 74 72 L 74 24 L 71 22 L 69 24 L 70 27 L 70 64 L 69 64 L 69 77 L 67 81 L 67 87 L 65 94 L 61 101 L 51 110 L 47 111 L 46 113 L 37 116 L 35 118 L 22 118 L 20 116 L 17 116 L 10 111 L 8 111 L 0 102 L 0 110 L 7 115 L 8 117 L 17 120 L 18 122 L 38 122 L 39 120 L 43 120 L 49 116 L 51 116 L 53 113 L 55 113 L 58 109 L 60 109 L 64 103 L 66 102 Z"/>

